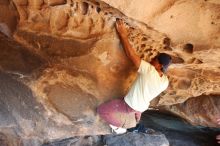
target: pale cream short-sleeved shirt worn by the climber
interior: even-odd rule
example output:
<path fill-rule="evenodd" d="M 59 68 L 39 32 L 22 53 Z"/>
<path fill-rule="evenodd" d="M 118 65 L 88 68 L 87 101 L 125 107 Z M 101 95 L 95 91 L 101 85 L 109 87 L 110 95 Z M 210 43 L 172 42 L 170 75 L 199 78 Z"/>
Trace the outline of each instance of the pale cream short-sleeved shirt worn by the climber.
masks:
<path fill-rule="evenodd" d="M 155 67 L 144 60 L 141 60 L 138 73 L 125 102 L 134 110 L 144 112 L 150 101 L 168 87 L 169 81 L 165 74 L 160 77 Z"/>

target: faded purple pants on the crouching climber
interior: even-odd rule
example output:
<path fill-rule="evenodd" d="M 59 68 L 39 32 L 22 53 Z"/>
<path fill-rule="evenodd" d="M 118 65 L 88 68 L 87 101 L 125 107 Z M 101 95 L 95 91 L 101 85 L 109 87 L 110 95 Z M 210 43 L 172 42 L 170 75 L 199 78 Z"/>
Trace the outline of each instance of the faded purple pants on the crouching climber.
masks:
<path fill-rule="evenodd" d="M 124 99 L 103 103 L 97 108 L 97 112 L 108 124 L 122 128 L 135 127 L 141 117 L 141 112 L 129 107 Z"/>

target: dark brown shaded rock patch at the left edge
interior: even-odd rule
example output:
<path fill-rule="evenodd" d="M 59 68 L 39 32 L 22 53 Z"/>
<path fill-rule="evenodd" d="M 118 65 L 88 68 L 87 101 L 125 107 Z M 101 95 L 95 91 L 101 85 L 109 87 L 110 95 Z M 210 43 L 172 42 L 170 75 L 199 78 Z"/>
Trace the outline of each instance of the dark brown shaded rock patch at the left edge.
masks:
<path fill-rule="evenodd" d="M 0 33 L 0 49 L 0 67 L 10 72 L 30 74 L 46 63 L 42 57 L 2 33 Z"/>

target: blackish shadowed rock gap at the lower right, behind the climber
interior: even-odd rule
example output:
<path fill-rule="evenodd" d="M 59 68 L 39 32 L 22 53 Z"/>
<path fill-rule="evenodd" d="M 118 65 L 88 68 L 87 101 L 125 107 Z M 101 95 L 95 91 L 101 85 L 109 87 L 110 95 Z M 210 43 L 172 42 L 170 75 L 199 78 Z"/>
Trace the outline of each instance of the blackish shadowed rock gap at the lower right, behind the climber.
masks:
<path fill-rule="evenodd" d="M 179 117 L 151 110 L 142 114 L 141 120 L 145 127 L 162 132 L 171 146 L 218 146 L 215 136 L 220 129 L 193 126 Z"/>

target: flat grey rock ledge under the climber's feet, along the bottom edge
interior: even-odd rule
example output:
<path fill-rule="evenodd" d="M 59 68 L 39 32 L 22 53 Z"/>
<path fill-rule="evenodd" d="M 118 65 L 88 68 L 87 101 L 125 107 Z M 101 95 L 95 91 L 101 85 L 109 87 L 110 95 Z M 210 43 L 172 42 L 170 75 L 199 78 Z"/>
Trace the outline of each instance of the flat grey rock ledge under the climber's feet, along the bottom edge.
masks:
<path fill-rule="evenodd" d="M 168 146 L 166 137 L 159 133 L 126 133 L 122 135 L 85 136 L 48 142 L 42 146 Z"/>

